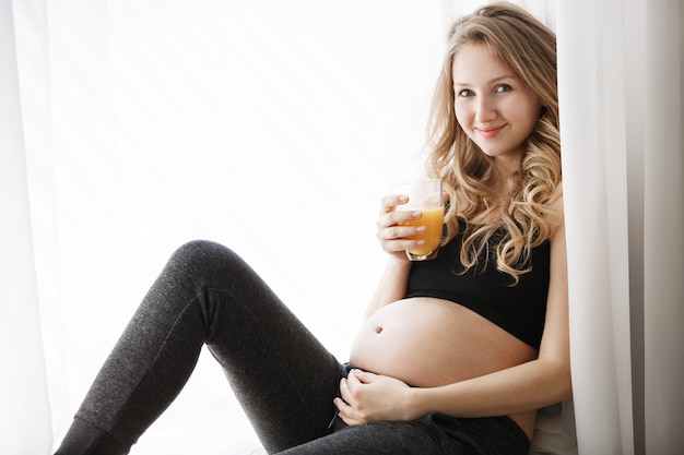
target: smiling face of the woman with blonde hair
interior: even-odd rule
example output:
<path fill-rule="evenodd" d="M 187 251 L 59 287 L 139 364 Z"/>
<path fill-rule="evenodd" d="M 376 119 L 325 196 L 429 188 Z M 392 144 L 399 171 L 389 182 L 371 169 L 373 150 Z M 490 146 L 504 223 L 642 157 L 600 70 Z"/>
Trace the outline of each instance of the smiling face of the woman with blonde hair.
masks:
<path fill-rule="evenodd" d="M 484 45 L 464 46 L 452 72 L 457 121 L 482 152 L 512 166 L 534 130 L 539 98 Z"/>

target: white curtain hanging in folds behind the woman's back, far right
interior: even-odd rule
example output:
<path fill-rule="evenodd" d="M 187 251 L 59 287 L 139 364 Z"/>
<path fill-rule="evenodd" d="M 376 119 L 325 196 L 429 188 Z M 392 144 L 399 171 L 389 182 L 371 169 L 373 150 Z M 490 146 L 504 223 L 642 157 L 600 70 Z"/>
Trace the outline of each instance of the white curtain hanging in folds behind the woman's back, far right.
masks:
<path fill-rule="evenodd" d="M 577 436 L 684 453 L 684 8 L 558 2 Z"/>

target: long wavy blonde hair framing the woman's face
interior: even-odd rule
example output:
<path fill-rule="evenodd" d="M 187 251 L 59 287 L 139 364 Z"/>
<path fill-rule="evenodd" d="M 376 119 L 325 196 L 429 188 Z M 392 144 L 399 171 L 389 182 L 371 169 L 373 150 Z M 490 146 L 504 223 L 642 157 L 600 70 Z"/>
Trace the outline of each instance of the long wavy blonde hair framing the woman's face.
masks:
<path fill-rule="evenodd" d="M 492 184 L 497 181 L 494 159 L 468 137 L 456 119 L 453 59 L 472 44 L 485 45 L 508 64 L 543 106 L 523 144 L 518 171 L 507 179 L 504 192 Z M 426 171 L 443 179 L 450 196 L 445 243 L 458 234 L 459 219 L 485 218 L 464 231 L 460 260 L 465 270 L 477 265 L 483 252 L 490 258 L 490 248 L 495 248 L 497 268 L 517 284 L 531 270 L 532 249 L 562 223 L 550 208 L 562 179 L 556 74 L 554 33 L 518 7 L 486 5 L 458 20 L 449 31 L 427 125 Z"/>

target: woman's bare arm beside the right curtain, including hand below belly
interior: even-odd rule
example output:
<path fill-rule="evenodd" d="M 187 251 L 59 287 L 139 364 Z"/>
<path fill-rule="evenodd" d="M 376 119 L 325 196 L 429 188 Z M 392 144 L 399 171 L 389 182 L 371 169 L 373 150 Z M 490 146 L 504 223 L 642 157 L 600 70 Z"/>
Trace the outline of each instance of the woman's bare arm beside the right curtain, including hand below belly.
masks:
<path fill-rule="evenodd" d="M 563 213 L 562 200 L 557 205 Z M 453 417 L 508 416 L 570 399 L 568 285 L 563 226 L 551 239 L 550 272 L 546 319 L 536 359 L 439 387 L 409 387 L 391 378 L 357 372 L 352 384 L 343 381 L 346 390 L 342 391 L 347 400 L 357 398 L 357 402 L 349 406 L 338 399 L 338 407 L 349 412 L 350 422 L 368 423 L 413 420 L 428 412 Z M 355 386 L 357 383 L 375 385 L 375 392 Z M 358 396 L 352 396 L 356 394 Z"/>

